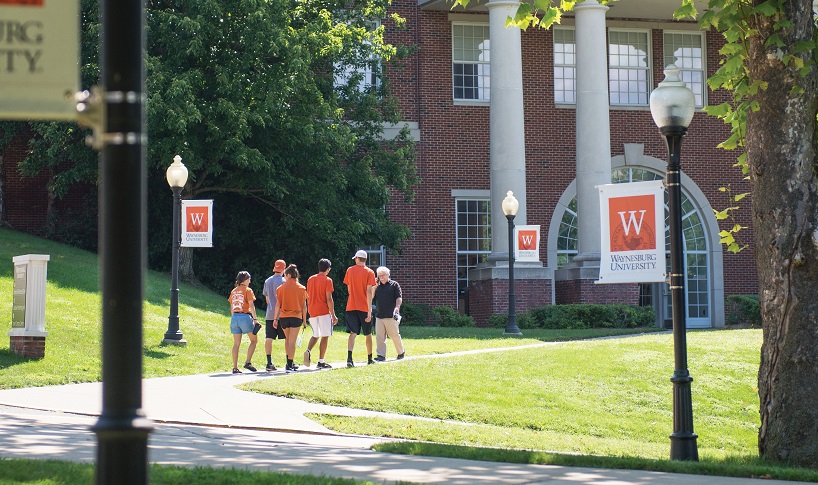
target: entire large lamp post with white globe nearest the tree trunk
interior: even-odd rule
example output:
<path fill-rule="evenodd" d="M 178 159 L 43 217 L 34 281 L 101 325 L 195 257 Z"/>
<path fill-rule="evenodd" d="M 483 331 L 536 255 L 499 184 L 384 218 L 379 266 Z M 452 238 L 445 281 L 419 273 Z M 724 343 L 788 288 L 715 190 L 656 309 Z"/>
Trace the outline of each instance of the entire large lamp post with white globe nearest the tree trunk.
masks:
<path fill-rule="evenodd" d="M 673 306 L 673 433 L 670 435 L 670 459 L 698 461 L 698 436 L 693 432 L 693 402 L 687 369 L 685 322 L 684 254 L 682 246 L 682 188 L 679 152 L 682 138 L 693 119 L 693 92 L 679 78 L 674 65 L 665 68 L 665 79 L 650 95 L 650 112 L 668 149 L 667 185 L 670 212 L 670 294 Z"/>

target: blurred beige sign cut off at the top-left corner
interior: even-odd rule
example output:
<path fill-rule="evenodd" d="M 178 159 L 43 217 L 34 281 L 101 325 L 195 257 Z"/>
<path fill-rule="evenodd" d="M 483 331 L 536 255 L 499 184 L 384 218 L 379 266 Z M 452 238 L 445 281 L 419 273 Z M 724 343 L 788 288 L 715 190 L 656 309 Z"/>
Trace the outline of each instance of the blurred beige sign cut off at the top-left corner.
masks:
<path fill-rule="evenodd" d="M 80 0 L 0 0 L 0 119 L 73 120 Z"/>

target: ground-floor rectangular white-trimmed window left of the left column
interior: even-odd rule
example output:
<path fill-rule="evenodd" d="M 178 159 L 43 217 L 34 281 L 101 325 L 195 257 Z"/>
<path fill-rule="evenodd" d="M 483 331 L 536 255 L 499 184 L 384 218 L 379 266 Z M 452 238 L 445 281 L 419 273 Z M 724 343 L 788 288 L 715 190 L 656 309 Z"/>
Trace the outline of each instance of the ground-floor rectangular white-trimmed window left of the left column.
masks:
<path fill-rule="evenodd" d="M 488 260 L 491 252 L 491 203 L 488 199 L 456 199 L 457 295 L 469 286 L 469 271 Z"/>

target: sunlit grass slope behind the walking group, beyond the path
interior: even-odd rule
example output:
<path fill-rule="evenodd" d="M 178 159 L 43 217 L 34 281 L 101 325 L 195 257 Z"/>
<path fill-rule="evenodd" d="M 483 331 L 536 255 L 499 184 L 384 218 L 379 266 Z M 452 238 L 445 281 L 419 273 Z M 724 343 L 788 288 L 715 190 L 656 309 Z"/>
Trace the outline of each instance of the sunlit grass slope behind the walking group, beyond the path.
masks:
<path fill-rule="evenodd" d="M 8 340 L 0 341 L 0 388 L 18 388 L 93 382 L 101 376 L 101 322 L 99 268 L 96 254 L 0 229 L 0 301 L 11 302 L 14 281 L 11 259 L 22 254 L 48 254 L 46 285 L 45 358 L 27 359 L 11 352 Z M 256 294 L 261 295 L 256 282 Z M 229 308 L 227 295 L 182 283 L 179 296 L 179 327 L 186 347 L 162 345 L 168 327 L 170 278 L 148 271 L 143 306 L 144 377 L 227 372 L 230 363 Z M 263 315 L 263 310 L 259 311 Z M 614 335 L 644 330 L 526 331 L 521 339 L 503 338 L 500 329 L 405 327 L 402 329 L 409 355 L 458 350 L 517 346 L 543 340 L 565 340 Z M 262 331 L 263 334 L 263 331 Z M 305 337 L 309 337 L 307 330 Z M 348 334 L 338 332 L 330 341 L 330 362 L 346 361 Z M 242 344 L 242 356 L 247 348 Z M 391 345 L 391 344 L 390 344 Z M 391 347 L 390 347 L 391 349 Z M 303 351 L 303 347 L 301 349 Z M 365 360 L 363 338 L 358 338 L 355 357 Z M 283 365 L 283 342 L 273 343 L 273 359 Z M 298 357 L 298 356 L 297 356 Z M 254 361 L 265 360 L 263 345 Z"/>

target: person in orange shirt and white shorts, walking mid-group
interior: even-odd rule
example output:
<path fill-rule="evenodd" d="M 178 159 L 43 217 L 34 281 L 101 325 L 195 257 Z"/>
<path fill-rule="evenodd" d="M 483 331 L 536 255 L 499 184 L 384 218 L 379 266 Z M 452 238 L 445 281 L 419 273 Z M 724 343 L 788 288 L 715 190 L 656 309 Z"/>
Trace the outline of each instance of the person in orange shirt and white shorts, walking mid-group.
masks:
<path fill-rule="evenodd" d="M 332 326 L 338 323 L 335 316 L 335 301 L 332 293 L 335 291 L 332 280 L 327 276 L 332 269 L 332 262 L 328 259 L 318 261 L 318 274 L 310 276 L 307 280 L 307 309 L 310 312 L 310 327 L 312 328 L 312 338 L 304 351 L 304 366 L 310 366 L 310 352 L 315 347 L 316 342 L 321 340 L 318 346 L 318 368 L 331 369 L 332 366 L 324 362 L 327 353 L 327 343 L 332 335 Z"/>

